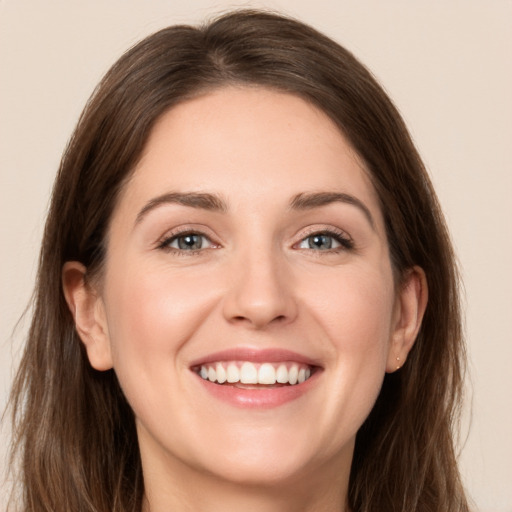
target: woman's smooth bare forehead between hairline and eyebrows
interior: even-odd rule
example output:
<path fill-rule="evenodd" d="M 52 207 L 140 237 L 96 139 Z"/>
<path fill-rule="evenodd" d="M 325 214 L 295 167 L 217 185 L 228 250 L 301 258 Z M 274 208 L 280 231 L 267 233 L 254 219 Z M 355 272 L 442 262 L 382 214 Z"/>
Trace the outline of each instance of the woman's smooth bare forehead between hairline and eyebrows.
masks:
<path fill-rule="evenodd" d="M 339 191 L 380 215 L 368 171 L 335 123 L 298 96 L 259 87 L 209 92 L 157 121 L 120 202 L 167 191 L 263 205 L 305 191 Z"/>

